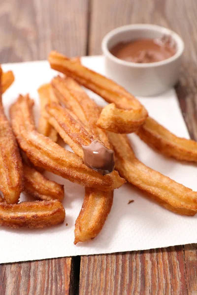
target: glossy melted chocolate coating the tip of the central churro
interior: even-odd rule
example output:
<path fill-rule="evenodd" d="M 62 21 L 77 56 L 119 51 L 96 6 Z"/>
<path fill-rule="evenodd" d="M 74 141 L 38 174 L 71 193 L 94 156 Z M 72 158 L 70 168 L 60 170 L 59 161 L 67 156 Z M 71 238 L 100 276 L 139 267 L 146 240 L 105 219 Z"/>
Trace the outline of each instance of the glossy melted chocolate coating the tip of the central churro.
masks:
<path fill-rule="evenodd" d="M 114 151 L 105 148 L 97 140 L 94 140 L 89 146 L 82 146 L 83 161 L 86 166 L 105 175 L 114 170 Z"/>

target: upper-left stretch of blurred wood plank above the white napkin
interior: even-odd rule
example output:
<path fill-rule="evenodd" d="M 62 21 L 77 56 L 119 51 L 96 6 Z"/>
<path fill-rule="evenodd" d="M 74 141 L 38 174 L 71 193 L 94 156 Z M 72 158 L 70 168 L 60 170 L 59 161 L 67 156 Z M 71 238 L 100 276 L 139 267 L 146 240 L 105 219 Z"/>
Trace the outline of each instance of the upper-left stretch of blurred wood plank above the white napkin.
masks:
<path fill-rule="evenodd" d="M 0 63 L 86 54 L 88 0 L 1 0 Z"/>

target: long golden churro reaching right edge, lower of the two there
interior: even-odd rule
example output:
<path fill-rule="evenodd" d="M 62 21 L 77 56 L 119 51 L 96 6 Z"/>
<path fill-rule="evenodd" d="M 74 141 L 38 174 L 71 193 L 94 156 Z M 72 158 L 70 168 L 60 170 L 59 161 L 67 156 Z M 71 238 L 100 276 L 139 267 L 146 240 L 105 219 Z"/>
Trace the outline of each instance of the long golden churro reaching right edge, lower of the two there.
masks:
<path fill-rule="evenodd" d="M 163 207 L 182 215 L 197 213 L 197 192 L 145 166 L 134 155 L 127 136 L 109 133 L 120 175 Z"/>

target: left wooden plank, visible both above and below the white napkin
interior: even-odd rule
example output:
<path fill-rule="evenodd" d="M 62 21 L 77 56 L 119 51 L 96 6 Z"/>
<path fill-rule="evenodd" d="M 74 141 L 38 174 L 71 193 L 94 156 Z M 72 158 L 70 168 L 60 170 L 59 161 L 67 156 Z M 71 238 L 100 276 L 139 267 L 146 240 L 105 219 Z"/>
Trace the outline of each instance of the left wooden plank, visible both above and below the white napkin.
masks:
<path fill-rule="evenodd" d="M 1 0 L 0 63 L 86 54 L 88 0 Z M 76 294 L 75 259 L 0 265 L 0 294 Z M 78 265 L 79 267 L 79 265 Z"/>

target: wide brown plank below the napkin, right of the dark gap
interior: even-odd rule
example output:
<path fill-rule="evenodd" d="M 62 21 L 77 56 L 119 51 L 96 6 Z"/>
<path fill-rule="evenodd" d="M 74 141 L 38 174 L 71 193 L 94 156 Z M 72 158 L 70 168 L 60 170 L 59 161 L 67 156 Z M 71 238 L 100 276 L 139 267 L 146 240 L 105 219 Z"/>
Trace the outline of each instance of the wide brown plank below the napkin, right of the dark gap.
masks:
<path fill-rule="evenodd" d="M 182 246 L 81 257 L 79 294 L 187 294 Z"/>

